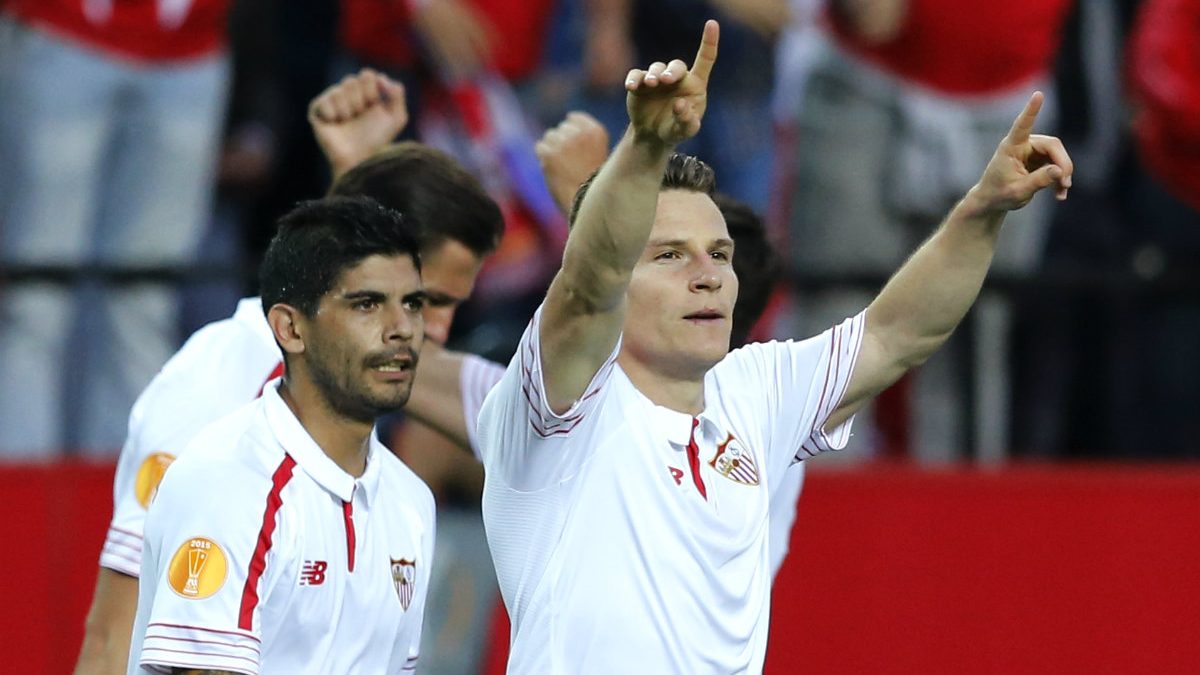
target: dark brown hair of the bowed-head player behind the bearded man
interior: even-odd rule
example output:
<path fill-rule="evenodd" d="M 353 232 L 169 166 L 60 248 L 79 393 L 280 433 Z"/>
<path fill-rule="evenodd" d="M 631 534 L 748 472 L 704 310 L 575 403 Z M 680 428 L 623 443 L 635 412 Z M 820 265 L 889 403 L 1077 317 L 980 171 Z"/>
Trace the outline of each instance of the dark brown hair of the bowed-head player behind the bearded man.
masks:
<path fill-rule="evenodd" d="M 330 195 L 365 196 L 404 214 L 425 251 L 448 239 L 479 257 L 499 246 L 504 216 L 475 177 L 450 155 L 406 141 L 348 171 Z"/>

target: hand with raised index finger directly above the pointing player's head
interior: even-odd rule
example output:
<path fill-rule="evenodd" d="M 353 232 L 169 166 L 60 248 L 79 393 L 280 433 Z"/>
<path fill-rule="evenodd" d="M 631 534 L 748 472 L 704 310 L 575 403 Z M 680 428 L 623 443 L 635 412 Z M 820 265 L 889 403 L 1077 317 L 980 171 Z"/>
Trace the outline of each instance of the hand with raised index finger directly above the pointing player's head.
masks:
<path fill-rule="evenodd" d="M 716 22 L 709 19 L 691 70 L 676 59 L 666 65 L 655 61 L 644 71 L 629 71 L 625 108 L 636 138 L 677 145 L 700 132 L 700 121 L 708 108 L 708 77 L 716 62 L 719 37 Z"/>

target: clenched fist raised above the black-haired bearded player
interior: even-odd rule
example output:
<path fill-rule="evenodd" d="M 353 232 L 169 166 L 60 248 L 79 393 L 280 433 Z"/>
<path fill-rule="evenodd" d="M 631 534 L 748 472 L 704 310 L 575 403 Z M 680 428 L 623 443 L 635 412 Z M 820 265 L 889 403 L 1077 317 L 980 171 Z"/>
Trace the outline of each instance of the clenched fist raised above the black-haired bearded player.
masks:
<path fill-rule="evenodd" d="M 408 125 L 404 86 L 362 68 L 312 100 L 308 124 L 336 179 L 391 143 Z"/>

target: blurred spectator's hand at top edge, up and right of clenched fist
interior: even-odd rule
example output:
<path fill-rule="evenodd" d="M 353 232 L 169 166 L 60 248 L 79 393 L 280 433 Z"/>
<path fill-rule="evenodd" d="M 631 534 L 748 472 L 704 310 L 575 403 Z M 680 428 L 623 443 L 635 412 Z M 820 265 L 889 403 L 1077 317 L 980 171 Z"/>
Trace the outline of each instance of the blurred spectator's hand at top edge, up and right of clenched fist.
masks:
<path fill-rule="evenodd" d="M 494 30 L 474 7 L 460 0 L 413 5 L 416 30 L 451 80 L 479 72 L 491 59 Z"/>

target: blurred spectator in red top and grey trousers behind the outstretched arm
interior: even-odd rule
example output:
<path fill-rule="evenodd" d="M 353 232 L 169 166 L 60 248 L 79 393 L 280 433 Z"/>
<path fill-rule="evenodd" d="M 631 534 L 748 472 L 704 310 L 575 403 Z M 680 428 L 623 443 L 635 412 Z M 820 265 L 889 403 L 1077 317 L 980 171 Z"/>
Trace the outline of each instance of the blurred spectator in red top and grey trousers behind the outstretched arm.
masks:
<path fill-rule="evenodd" d="M 894 269 L 971 186 L 1030 91 L 1046 89 L 1069 5 L 1021 0 L 964 11 L 947 0 L 830 0 L 797 124 L 791 262 L 815 274 Z M 1052 118 L 1048 101 L 1039 125 Z M 1049 203 L 1042 196 L 1009 215 L 995 270 L 1024 274 L 1034 265 Z M 800 325 L 788 330 L 827 327 L 869 298 L 814 294 L 798 307 Z M 911 447 L 923 458 L 954 458 L 968 432 L 980 452 L 1003 452 L 1008 313 L 986 297 L 974 310 L 973 430 L 959 414 L 967 396 L 954 347 L 916 375 Z M 874 447 L 863 422 L 851 443 Z"/>

